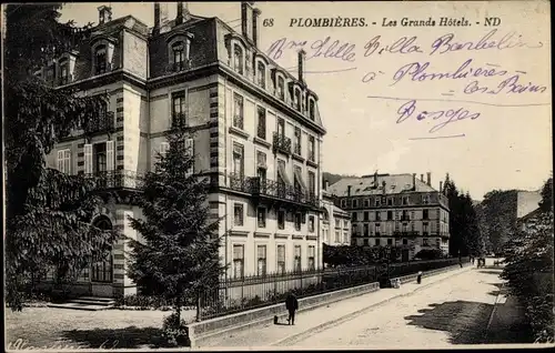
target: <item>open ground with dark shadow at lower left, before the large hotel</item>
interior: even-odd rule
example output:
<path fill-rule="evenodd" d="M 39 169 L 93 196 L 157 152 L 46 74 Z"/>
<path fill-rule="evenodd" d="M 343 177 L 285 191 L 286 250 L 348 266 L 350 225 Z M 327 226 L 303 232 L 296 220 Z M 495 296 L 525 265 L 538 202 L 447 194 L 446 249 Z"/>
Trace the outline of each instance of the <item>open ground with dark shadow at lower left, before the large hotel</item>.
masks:
<path fill-rule="evenodd" d="M 81 311 L 58 307 L 6 307 L 8 349 L 152 349 L 161 346 L 170 311 Z M 191 322 L 194 311 L 184 312 Z M 9 344 L 11 343 L 11 346 Z M 24 346 L 21 346 L 24 343 Z"/>

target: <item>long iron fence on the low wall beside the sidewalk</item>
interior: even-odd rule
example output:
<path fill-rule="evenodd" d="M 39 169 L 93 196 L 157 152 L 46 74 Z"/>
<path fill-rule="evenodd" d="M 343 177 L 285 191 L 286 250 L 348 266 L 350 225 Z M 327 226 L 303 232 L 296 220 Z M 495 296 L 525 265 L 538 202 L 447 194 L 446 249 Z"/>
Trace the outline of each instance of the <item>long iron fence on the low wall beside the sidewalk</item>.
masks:
<path fill-rule="evenodd" d="M 468 261 L 468 258 L 462 259 L 463 263 Z M 440 259 L 223 279 L 216 290 L 201 295 L 201 319 L 206 320 L 281 303 L 290 291 L 297 297 L 304 297 L 382 282 L 418 271 L 442 269 L 458 262 L 458 258 Z"/>

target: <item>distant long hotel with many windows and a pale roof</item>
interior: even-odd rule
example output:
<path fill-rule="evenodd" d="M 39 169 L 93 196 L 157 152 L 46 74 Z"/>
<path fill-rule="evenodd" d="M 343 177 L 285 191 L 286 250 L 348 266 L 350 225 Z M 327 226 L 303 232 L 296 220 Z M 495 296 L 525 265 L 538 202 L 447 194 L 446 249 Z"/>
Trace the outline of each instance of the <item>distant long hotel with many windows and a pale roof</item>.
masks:
<path fill-rule="evenodd" d="M 442 189 L 440 183 L 440 190 Z M 330 186 L 335 205 L 351 213 L 352 242 L 402 248 L 402 261 L 423 249 L 448 252 L 448 201 L 432 188 L 431 173 L 344 178 Z"/>

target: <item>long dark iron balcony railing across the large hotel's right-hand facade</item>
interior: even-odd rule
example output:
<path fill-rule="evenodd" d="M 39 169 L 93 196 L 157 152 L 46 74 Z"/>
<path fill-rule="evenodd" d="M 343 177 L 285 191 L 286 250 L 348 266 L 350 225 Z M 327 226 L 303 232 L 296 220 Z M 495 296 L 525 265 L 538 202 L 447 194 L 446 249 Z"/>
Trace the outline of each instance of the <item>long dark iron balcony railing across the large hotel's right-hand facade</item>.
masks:
<path fill-rule="evenodd" d="M 235 191 L 250 193 L 256 196 L 296 202 L 316 206 L 317 196 L 312 192 L 304 192 L 294 186 L 260 176 L 230 175 L 230 188 Z"/>

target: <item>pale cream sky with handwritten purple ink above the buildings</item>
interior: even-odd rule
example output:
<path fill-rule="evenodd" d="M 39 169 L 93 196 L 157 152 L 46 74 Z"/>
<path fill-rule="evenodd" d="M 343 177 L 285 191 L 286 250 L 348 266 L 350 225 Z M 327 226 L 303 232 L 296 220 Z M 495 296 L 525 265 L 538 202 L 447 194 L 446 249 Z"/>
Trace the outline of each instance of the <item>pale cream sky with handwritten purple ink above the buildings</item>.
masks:
<path fill-rule="evenodd" d="M 62 20 L 97 22 L 101 4 L 111 4 L 114 19 L 132 14 L 153 24 L 151 2 L 68 3 Z M 173 18 L 175 3 L 167 4 Z M 260 48 L 278 63 L 296 74 L 296 51 L 306 51 L 306 82 L 319 94 L 327 130 L 324 171 L 431 172 L 435 188 L 450 173 L 476 200 L 491 190 L 537 190 L 551 175 L 547 2 L 295 1 L 255 7 L 262 11 L 261 23 L 273 19 L 271 27 L 261 28 Z M 190 2 L 189 10 L 241 29 L 239 2 Z M 339 17 L 363 18 L 366 26 L 291 26 Z M 501 24 L 486 27 L 486 17 Z M 403 18 L 431 19 L 435 26 L 408 26 Z M 471 26 L 441 27 L 442 18 Z"/>

